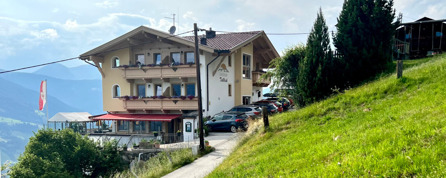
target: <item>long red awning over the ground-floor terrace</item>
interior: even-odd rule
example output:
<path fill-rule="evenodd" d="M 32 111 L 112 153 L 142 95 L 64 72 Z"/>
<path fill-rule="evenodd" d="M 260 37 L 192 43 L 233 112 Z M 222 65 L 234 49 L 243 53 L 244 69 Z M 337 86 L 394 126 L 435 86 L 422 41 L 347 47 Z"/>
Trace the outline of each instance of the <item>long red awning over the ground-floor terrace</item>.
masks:
<path fill-rule="evenodd" d="M 93 120 L 122 120 L 122 121 L 172 121 L 181 114 L 104 114 L 93 117 Z"/>

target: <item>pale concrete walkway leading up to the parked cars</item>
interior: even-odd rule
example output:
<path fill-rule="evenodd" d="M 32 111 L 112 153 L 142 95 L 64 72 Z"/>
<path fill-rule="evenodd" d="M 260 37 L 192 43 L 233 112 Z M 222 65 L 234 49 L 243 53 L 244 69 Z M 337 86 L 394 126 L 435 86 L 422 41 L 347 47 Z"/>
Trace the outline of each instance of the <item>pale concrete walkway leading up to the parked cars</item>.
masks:
<path fill-rule="evenodd" d="M 237 140 L 242 135 L 243 133 L 211 132 L 204 139 L 209 141 L 210 146 L 215 147 L 215 151 L 186 166 L 182 166 L 178 170 L 174 170 L 162 178 L 203 178 L 223 162 L 223 159 L 231 153 Z"/>

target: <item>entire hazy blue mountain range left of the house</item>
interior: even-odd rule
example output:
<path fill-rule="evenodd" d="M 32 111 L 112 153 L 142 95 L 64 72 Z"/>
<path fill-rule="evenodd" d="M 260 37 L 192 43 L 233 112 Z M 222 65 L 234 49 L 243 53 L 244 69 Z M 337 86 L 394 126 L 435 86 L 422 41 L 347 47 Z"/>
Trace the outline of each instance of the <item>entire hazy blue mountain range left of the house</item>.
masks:
<path fill-rule="evenodd" d="M 33 73 L 1 73 L 0 162 L 16 161 L 33 132 L 44 124 L 46 127 L 46 106 L 38 109 L 41 80 L 47 80 L 48 115 L 52 117 L 59 112 L 104 113 L 100 79 L 91 65 L 68 68 L 52 64 Z"/>

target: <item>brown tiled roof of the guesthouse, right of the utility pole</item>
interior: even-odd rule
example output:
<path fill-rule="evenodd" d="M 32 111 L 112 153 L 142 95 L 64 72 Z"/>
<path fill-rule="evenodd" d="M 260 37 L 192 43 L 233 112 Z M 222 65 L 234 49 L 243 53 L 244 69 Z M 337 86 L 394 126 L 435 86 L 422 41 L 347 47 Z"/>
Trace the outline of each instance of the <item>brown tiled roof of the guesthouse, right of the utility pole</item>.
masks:
<path fill-rule="evenodd" d="M 215 37 L 206 39 L 206 46 L 218 50 L 232 49 L 246 40 L 256 36 L 260 32 L 262 31 L 216 34 Z M 194 41 L 194 36 L 183 36 L 183 38 Z M 198 42 L 201 41 L 201 36 L 198 36 L 198 40 Z"/>

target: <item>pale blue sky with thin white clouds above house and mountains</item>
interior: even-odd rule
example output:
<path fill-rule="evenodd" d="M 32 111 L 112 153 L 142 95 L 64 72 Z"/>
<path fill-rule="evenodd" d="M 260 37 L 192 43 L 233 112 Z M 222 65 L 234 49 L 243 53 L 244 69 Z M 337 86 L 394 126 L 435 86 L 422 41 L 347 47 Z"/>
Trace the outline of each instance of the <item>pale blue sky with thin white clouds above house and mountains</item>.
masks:
<path fill-rule="evenodd" d="M 331 30 L 343 0 L 1 0 L 0 69 L 10 70 L 78 57 L 141 25 L 167 32 L 212 27 L 216 31 L 306 33 L 319 7 Z M 427 16 L 446 18 L 445 0 L 395 0 L 403 22 Z M 413 18 L 413 19 L 411 19 Z M 185 34 L 185 36 L 192 35 Z M 305 43 L 307 35 L 268 35 L 279 53 Z M 84 65 L 81 60 L 61 63 Z M 40 67 L 26 69 L 33 72 Z"/>

